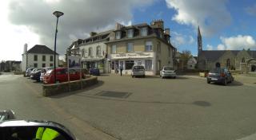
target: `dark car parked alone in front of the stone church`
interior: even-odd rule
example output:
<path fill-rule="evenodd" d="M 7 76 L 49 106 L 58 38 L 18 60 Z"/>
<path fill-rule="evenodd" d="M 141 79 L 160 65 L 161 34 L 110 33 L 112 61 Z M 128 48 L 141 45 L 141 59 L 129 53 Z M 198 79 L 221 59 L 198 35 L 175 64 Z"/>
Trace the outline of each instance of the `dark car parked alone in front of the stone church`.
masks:
<path fill-rule="evenodd" d="M 208 84 L 210 84 L 210 82 L 214 82 L 226 85 L 228 83 L 232 83 L 234 81 L 234 77 L 226 68 L 211 68 L 210 72 L 207 74 L 206 80 Z"/>

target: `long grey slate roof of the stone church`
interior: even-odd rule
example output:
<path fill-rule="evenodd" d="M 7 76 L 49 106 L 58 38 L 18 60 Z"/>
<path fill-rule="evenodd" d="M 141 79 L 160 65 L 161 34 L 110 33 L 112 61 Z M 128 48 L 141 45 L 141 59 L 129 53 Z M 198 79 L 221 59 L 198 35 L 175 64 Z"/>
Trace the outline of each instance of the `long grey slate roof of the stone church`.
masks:
<path fill-rule="evenodd" d="M 202 51 L 200 55 L 203 55 L 206 57 L 206 60 L 214 61 L 218 60 L 219 57 L 221 57 L 225 52 L 231 51 L 234 56 L 238 55 L 238 52 L 241 52 L 242 50 L 207 50 Z M 248 52 L 251 57 L 256 58 L 256 51 L 249 51 Z"/>

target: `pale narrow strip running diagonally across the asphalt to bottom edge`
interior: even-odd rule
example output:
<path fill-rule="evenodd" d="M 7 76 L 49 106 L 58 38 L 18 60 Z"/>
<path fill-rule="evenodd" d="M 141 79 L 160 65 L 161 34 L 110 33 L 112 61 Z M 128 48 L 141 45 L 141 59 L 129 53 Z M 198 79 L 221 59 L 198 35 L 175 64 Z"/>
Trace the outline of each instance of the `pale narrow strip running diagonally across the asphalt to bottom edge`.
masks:
<path fill-rule="evenodd" d="M 25 84 L 27 88 L 30 88 L 30 90 L 33 91 L 36 95 L 41 94 L 39 91 L 32 88 L 29 84 L 26 84 L 26 83 L 23 83 L 23 84 Z M 88 124 L 84 120 L 78 119 L 74 115 L 67 113 L 62 107 L 59 107 L 57 103 L 55 103 L 52 99 L 45 97 L 43 98 L 43 100 L 47 103 L 48 106 L 50 106 L 51 110 L 55 111 L 57 115 L 65 117 L 64 119 L 66 121 L 69 121 L 71 124 L 78 127 L 78 129 L 82 130 L 84 134 L 91 134 L 96 139 L 104 139 L 104 140 L 121 139 L 121 138 L 115 138 L 113 135 L 107 134 L 102 130 L 98 130 L 93 126 L 90 126 L 90 124 Z"/>

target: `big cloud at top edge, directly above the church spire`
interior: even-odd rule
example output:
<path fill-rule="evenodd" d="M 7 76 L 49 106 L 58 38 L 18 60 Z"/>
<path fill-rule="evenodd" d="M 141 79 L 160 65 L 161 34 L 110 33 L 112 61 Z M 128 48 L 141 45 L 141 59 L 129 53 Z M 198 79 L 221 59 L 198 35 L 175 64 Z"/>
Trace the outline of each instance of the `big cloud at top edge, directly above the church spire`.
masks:
<path fill-rule="evenodd" d="M 200 25 L 206 36 L 230 25 L 230 12 L 226 9 L 228 0 L 166 0 L 169 8 L 177 11 L 172 20 L 182 25 Z"/>

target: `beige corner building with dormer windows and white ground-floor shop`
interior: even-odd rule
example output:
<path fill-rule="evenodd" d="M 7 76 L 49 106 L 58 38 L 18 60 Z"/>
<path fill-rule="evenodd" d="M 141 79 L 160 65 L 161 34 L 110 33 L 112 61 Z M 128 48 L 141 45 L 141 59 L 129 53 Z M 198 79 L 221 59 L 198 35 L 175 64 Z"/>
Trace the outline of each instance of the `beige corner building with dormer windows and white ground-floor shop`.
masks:
<path fill-rule="evenodd" d="M 143 65 L 146 75 L 158 75 L 164 65 L 174 67 L 174 47 L 170 44 L 170 29 L 164 29 L 162 20 L 150 25 L 124 26 L 117 23 L 110 41 L 106 42 L 107 72 L 130 75 L 133 65 Z"/>

